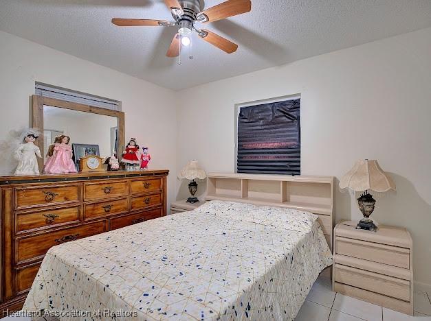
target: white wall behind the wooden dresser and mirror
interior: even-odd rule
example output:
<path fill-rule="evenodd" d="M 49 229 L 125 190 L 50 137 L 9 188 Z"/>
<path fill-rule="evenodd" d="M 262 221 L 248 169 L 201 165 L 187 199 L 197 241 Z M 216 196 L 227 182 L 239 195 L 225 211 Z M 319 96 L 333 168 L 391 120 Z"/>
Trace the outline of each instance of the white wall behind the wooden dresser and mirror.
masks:
<path fill-rule="evenodd" d="M 0 32 L 0 137 L 28 126 L 34 82 L 122 102 L 126 140 L 148 145 L 149 169 L 169 169 L 168 202 L 175 198 L 176 107 L 174 93 L 144 80 Z"/>

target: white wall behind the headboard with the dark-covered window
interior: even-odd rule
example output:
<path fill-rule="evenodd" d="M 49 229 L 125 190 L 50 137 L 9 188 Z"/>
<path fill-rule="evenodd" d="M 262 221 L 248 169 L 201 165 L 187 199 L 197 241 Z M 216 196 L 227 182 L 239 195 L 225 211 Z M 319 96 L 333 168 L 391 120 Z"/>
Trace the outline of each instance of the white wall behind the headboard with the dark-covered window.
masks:
<path fill-rule="evenodd" d="M 181 91 L 177 169 L 196 158 L 233 172 L 234 105 L 297 93 L 302 174 L 340 178 L 357 159 L 379 160 L 397 193 L 373 217 L 410 230 L 415 280 L 431 284 L 431 29 Z M 337 220 L 360 217 L 338 191 Z"/>

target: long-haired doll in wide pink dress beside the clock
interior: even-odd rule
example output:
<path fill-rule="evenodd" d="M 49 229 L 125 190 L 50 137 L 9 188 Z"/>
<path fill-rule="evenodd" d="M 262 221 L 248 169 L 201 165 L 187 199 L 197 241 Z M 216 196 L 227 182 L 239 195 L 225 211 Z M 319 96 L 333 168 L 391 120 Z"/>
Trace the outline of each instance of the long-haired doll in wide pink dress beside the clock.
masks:
<path fill-rule="evenodd" d="M 49 146 L 48 158 L 43 167 L 47 174 L 76 173 L 76 167 L 72 158 L 72 150 L 69 145 L 69 136 L 56 137 L 56 143 Z"/>

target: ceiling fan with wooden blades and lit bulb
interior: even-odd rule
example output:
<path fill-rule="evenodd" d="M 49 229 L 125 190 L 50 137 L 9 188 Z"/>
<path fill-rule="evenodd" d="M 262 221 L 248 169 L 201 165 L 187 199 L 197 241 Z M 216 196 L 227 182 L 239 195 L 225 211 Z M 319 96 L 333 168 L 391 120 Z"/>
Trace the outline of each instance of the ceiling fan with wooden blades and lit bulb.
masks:
<path fill-rule="evenodd" d="M 208 23 L 243 14 L 252 10 L 250 0 L 228 0 L 214 7 L 201 11 L 201 0 L 164 0 L 175 21 L 151 20 L 151 19 L 112 19 L 114 25 L 120 27 L 131 26 L 161 26 L 168 27 L 177 25 L 178 32 L 175 34 L 166 56 L 177 57 L 181 46 L 190 45 L 192 31 L 197 32 L 200 38 L 207 43 L 225 51 L 233 53 L 238 45 L 228 39 L 214 34 L 207 29 L 197 29 L 195 23 Z"/>

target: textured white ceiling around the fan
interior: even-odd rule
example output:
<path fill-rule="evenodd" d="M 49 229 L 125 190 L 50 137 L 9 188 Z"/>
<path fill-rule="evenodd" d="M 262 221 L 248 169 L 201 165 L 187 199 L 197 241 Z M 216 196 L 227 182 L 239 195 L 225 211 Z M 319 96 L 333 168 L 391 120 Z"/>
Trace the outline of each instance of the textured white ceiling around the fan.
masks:
<path fill-rule="evenodd" d="M 1 30 L 175 90 L 430 27 L 431 1 L 252 0 L 252 12 L 205 26 L 236 53 L 194 35 L 181 66 L 165 56 L 175 27 L 115 27 L 113 17 L 171 20 L 162 0 L 0 0 Z"/>

